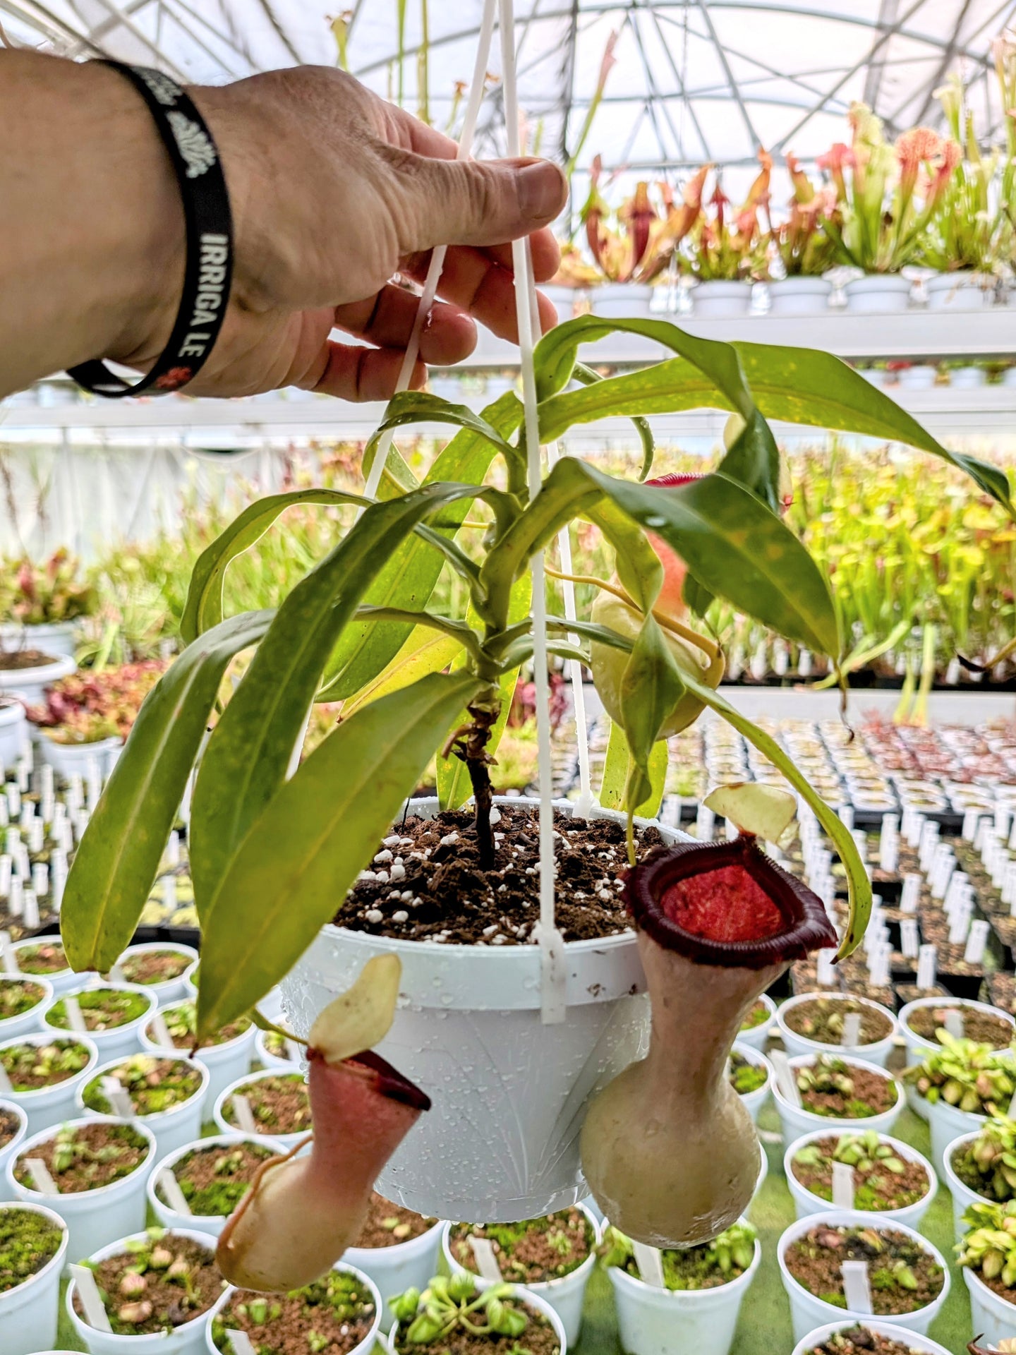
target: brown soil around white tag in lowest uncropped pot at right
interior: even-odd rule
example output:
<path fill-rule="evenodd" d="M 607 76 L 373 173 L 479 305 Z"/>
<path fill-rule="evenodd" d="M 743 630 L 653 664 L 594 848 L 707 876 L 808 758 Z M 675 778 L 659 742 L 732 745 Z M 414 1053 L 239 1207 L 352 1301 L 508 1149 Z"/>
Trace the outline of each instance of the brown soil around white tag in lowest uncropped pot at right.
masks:
<path fill-rule="evenodd" d="M 787 1248 L 787 1270 L 816 1298 L 844 1306 L 843 1270 L 847 1260 L 867 1262 L 875 1317 L 913 1313 L 941 1293 L 944 1274 L 935 1257 L 908 1233 L 894 1229 L 830 1228 L 818 1224 Z M 906 1289 L 894 1267 L 909 1267 L 914 1280 Z"/>

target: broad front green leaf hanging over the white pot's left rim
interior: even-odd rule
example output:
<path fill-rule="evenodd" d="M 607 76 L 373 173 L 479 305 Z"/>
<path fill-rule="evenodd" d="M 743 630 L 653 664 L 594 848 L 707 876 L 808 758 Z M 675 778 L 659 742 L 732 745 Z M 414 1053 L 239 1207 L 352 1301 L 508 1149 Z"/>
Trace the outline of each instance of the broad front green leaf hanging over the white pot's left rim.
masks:
<path fill-rule="evenodd" d="M 481 683 L 432 673 L 329 734 L 256 820 L 205 923 L 198 1034 L 257 1003 L 331 921 Z"/>

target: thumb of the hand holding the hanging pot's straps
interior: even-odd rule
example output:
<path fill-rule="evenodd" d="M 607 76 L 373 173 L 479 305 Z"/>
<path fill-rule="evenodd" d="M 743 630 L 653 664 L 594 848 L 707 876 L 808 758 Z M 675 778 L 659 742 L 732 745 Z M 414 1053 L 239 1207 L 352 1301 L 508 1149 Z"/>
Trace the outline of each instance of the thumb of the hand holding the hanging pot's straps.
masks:
<path fill-rule="evenodd" d="M 404 255 L 517 240 L 549 225 L 568 198 L 550 160 L 409 159 L 396 168 Z"/>

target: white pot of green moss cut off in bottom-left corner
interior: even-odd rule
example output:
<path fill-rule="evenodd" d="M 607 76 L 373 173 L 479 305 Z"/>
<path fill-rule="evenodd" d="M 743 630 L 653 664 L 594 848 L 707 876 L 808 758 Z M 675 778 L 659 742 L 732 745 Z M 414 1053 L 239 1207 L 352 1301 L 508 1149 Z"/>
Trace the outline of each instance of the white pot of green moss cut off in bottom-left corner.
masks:
<path fill-rule="evenodd" d="M 64 1220 L 38 1205 L 0 1205 L 0 1350 L 31 1355 L 57 1339 Z"/>

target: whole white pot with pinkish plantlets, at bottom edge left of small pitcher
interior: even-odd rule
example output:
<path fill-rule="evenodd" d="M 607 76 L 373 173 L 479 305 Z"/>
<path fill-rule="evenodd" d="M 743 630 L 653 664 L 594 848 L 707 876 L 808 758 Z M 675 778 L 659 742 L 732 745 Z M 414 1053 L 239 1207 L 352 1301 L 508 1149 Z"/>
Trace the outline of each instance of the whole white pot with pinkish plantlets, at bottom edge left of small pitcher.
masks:
<path fill-rule="evenodd" d="M 214 1238 L 195 1229 L 149 1228 L 93 1252 L 107 1331 L 88 1321 L 77 1280 L 66 1309 L 92 1355 L 206 1355 L 209 1314 L 221 1301 Z"/>

